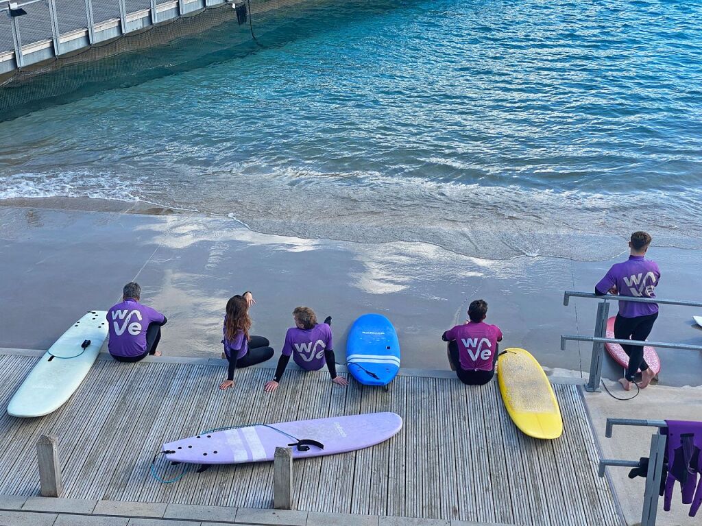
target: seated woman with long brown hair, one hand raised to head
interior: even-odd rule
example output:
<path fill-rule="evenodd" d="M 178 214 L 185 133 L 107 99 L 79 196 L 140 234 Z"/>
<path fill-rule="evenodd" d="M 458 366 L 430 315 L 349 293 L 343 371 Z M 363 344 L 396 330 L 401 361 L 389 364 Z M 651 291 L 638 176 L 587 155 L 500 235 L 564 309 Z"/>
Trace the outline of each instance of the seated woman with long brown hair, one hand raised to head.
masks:
<path fill-rule="evenodd" d="M 224 317 L 224 353 L 229 361 L 227 379 L 220 383 L 220 389 L 229 389 L 234 386 L 234 371 L 237 367 L 249 367 L 270 360 L 273 349 L 270 342 L 263 336 L 249 336 L 251 318 L 249 307 L 256 303 L 251 292 L 244 292 L 243 296 L 232 296 L 227 301 L 227 313 Z"/>

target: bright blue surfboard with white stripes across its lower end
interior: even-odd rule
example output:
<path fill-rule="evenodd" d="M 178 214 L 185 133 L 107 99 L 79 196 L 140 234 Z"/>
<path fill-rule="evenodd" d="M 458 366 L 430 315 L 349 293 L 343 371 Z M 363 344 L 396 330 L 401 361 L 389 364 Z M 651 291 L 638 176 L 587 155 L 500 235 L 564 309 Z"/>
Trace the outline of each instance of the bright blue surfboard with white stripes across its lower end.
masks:
<path fill-rule="evenodd" d="M 399 371 L 399 341 L 390 320 L 364 314 L 354 322 L 346 340 L 346 365 L 365 386 L 387 386 Z"/>

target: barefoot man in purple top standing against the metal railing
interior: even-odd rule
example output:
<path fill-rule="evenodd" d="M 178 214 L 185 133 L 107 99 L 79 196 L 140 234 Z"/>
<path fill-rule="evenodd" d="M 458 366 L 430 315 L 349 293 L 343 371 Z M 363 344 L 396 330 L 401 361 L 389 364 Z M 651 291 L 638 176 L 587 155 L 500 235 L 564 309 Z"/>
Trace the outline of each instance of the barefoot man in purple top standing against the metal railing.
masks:
<path fill-rule="evenodd" d="M 634 232 L 629 242 L 630 256 L 627 261 L 615 263 L 606 275 L 595 285 L 595 294 L 604 296 L 618 294 L 635 298 L 655 298 L 654 289 L 661 281 L 661 270 L 654 261 L 644 258 L 651 244 L 651 236 L 646 232 Z M 637 303 L 619 301 L 619 313 L 614 322 L 614 337 L 623 340 L 645 340 L 651 334 L 658 317 L 657 303 Z M 638 369 L 642 380 L 638 384 L 645 388 L 656 374 L 644 360 L 644 348 L 623 345 L 629 357 L 629 366 L 623 379 L 619 380 L 624 390 L 630 390 Z"/>

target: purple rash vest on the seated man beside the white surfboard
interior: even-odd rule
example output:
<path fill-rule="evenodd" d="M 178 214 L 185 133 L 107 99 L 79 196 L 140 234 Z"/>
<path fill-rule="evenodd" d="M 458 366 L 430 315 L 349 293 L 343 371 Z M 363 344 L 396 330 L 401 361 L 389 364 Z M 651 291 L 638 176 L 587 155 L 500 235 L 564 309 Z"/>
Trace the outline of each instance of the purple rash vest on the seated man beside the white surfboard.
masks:
<path fill-rule="evenodd" d="M 107 349 L 114 356 L 132 357 L 146 353 L 146 330 L 152 322 L 166 320 L 158 310 L 127 298 L 107 311 L 110 341 Z"/>

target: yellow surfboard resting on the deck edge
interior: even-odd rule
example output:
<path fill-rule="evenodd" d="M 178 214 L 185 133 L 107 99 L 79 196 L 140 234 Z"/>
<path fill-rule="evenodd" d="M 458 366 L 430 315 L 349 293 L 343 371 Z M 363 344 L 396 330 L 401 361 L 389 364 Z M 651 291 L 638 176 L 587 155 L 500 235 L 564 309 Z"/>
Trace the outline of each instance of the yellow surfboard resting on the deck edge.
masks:
<path fill-rule="evenodd" d="M 497 380 L 507 412 L 523 433 L 534 438 L 558 438 L 563 433 L 556 395 L 529 352 L 512 347 L 500 353 Z"/>

